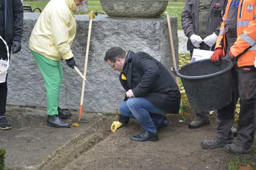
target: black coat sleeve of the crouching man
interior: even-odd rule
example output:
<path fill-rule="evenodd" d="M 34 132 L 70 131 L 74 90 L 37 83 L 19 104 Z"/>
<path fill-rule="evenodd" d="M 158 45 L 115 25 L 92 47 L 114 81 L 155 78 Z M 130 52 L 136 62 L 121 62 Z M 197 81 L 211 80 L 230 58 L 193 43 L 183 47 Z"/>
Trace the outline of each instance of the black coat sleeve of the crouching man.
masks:
<path fill-rule="evenodd" d="M 150 58 L 148 54 L 136 53 L 134 55 L 137 56 L 133 57 L 132 64 L 141 70 L 144 74 L 142 76 L 141 82 L 132 89 L 132 92 L 135 97 L 143 97 L 154 86 L 154 83 L 159 76 L 160 70 L 156 62 Z"/>

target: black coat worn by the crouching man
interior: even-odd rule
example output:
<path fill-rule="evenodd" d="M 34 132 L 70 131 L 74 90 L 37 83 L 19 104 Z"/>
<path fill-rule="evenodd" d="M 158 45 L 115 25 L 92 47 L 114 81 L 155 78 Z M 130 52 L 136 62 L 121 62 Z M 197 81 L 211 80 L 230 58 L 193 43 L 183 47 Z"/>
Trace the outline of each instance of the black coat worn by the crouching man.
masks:
<path fill-rule="evenodd" d="M 122 74 L 127 80 L 122 80 Z M 129 51 L 119 80 L 123 88 L 132 89 L 135 97 L 143 97 L 165 113 L 179 113 L 180 90 L 170 72 L 156 59 L 144 52 Z M 127 124 L 129 118 L 120 115 Z"/>

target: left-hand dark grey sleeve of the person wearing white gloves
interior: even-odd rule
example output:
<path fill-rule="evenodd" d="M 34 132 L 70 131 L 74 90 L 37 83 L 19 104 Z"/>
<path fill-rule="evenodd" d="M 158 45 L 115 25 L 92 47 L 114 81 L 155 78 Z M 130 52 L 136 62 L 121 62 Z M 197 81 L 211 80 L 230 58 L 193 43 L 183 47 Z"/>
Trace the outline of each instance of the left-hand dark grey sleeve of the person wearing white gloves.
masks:
<path fill-rule="evenodd" d="M 194 26 L 193 26 L 193 20 L 192 20 L 192 11 L 190 9 L 189 2 L 192 2 L 191 0 L 186 0 L 184 8 L 181 12 L 181 24 L 182 28 L 184 29 L 184 34 L 190 38 L 191 35 L 195 34 Z"/>

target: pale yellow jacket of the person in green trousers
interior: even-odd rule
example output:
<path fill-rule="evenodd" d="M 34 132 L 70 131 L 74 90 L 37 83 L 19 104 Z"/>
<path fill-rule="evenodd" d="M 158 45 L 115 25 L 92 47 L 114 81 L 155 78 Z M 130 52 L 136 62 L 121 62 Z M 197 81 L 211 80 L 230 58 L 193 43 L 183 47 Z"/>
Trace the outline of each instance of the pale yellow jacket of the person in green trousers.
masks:
<path fill-rule="evenodd" d="M 54 61 L 72 58 L 76 8 L 74 0 L 50 0 L 34 26 L 29 48 Z"/>

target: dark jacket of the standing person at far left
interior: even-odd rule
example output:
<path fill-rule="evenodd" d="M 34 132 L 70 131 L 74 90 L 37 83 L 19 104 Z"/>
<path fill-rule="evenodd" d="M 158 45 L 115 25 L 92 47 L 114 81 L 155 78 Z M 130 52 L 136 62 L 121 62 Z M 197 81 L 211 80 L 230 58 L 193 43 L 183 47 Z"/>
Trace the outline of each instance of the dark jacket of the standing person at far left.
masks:
<path fill-rule="evenodd" d="M 5 41 L 12 46 L 13 41 L 20 41 L 23 32 L 23 6 L 20 0 L 3 0 L 6 20 Z M 7 4 L 6 4 L 7 3 Z"/>

